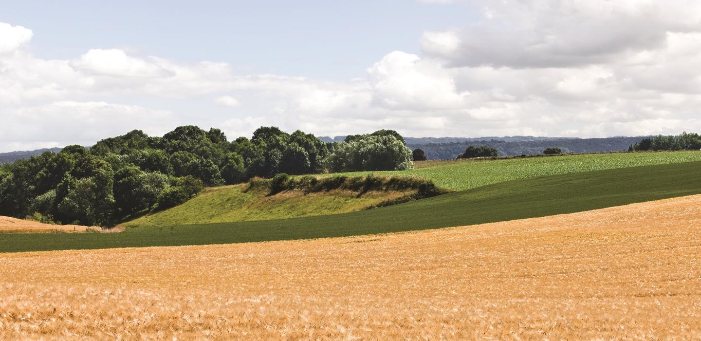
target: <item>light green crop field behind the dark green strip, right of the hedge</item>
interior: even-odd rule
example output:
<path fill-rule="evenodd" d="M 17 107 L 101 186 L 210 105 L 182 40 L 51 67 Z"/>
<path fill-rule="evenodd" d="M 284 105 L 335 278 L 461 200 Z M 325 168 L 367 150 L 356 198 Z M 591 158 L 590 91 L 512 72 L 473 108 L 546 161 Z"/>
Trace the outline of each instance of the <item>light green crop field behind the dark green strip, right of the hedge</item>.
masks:
<path fill-rule="evenodd" d="M 509 180 L 651 166 L 667 163 L 701 161 L 701 152 L 639 152 L 610 154 L 579 154 L 503 160 L 441 160 L 415 163 L 414 170 L 373 172 L 376 175 L 409 175 L 433 180 L 436 186 L 463 191 Z M 369 172 L 331 173 L 327 176 L 358 176 Z"/>

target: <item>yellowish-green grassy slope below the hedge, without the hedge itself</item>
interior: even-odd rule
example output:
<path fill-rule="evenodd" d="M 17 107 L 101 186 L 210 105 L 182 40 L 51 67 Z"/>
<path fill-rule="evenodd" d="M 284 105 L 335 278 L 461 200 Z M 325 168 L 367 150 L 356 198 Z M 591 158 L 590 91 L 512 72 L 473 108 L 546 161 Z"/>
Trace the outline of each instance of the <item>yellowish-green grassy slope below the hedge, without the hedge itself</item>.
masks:
<path fill-rule="evenodd" d="M 123 225 L 158 227 L 347 213 L 408 193 L 367 192 L 358 196 L 358 193 L 341 190 L 310 194 L 285 191 L 266 196 L 266 193 L 261 191 L 245 192 L 247 187 L 247 184 L 213 187 L 182 205 L 144 215 Z"/>

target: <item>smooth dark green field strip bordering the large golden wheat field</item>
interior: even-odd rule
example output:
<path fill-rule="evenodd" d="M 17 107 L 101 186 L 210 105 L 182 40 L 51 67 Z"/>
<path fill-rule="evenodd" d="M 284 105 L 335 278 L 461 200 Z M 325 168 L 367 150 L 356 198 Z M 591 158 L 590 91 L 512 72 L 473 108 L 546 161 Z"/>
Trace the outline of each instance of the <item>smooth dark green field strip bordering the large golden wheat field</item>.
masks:
<path fill-rule="evenodd" d="M 701 193 L 701 162 L 501 182 L 338 215 L 163 228 L 119 234 L 6 234 L 0 251 L 179 246 L 378 234 L 573 213 Z"/>

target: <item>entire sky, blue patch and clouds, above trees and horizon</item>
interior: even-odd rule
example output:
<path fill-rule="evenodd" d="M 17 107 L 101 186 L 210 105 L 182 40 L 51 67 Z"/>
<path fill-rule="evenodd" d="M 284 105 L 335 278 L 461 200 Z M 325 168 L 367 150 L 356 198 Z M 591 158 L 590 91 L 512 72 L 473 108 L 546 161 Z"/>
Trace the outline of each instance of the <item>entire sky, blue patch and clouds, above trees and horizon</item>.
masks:
<path fill-rule="evenodd" d="M 3 4 L 0 152 L 183 124 L 230 139 L 701 132 L 701 1 Z"/>

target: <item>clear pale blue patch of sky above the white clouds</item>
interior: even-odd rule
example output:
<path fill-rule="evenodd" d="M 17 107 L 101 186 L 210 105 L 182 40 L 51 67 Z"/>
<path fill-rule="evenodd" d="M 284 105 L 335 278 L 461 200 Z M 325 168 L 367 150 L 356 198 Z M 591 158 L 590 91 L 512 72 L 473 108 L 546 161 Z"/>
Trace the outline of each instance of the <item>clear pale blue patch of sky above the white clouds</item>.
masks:
<path fill-rule="evenodd" d="M 426 30 L 477 20 L 468 4 L 411 1 L 9 1 L 0 20 L 36 32 L 39 58 L 123 48 L 240 74 L 332 80 L 365 76 L 387 53 L 419 53 Z"/>

